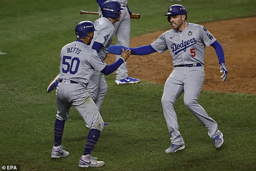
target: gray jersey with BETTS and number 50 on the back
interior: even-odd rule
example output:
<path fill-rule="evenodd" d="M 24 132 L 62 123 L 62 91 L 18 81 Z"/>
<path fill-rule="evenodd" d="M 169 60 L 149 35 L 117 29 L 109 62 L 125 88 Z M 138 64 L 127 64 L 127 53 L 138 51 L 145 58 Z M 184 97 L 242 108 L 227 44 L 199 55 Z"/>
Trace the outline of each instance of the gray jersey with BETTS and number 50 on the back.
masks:
<path fill-rule="evenodd" d="M 96 50 L 80 41 L 74 41 L 61 49 L 60 79 L 79 82 L 86 87 L 93 70 L 101 71 L 107 65 Z"/>

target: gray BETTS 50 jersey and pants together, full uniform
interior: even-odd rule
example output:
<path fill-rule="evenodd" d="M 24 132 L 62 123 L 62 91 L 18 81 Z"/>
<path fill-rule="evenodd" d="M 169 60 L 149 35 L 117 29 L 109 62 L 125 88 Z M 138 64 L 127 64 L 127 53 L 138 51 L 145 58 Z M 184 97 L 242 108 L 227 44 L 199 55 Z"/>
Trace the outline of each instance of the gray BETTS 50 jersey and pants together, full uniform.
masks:
<path fill-rule="evenodd" d="M 94 69 L 101 71 L 106 65 L 96 50 L 80 40 L 61 49 L 60 77 L 56 90 L 57 118 L 67 120 L 69 109 L 74 106 L 90 128 L 103 130 L 103 119 L 86 86 Z"/>

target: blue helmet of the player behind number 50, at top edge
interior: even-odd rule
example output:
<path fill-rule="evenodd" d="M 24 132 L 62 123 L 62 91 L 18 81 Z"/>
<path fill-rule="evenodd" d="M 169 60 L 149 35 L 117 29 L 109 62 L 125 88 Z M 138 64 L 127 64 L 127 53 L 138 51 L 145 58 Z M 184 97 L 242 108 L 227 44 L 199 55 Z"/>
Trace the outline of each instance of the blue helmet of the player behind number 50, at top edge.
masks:
<path fill-rule="evenodd" d="M 108 0 L 101 5 L 101 12 L 104 17 L 115 19 L 120 16 L 119 11 L 125 8 L 117 0 Z"/>

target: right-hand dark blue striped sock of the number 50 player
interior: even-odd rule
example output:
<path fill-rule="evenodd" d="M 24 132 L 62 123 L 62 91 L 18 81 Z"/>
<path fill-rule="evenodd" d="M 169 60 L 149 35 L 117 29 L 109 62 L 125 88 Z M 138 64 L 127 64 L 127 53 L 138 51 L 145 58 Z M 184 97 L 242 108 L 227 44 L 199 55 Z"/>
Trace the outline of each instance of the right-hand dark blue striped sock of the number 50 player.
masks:
<path fill-rule="evenodd" d="M 100 130 L 93 129 L 93 128 L 90 129 L 90 132 L 88 133 L 88 136 L 87 136 L 86 146 L 85 146 L 83 155 L 92 154 L 92 150 L 99 139 L 100 133 L 101 133 Z"/>

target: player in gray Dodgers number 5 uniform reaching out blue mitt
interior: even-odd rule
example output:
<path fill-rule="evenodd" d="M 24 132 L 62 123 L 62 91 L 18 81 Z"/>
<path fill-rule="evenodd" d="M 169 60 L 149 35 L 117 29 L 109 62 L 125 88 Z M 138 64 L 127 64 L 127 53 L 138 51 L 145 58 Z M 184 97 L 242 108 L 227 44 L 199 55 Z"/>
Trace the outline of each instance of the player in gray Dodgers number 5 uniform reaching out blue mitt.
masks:
<path fill-rule="evenodd" d="M 183 92 L 185 106 L 208 129 L 208 135 L 213 139 L 215 148 L 220 148 L 224 142 L 223 134 L 218 130 L 216 121 L 199 105 L 197 99 L 204 82 L 206 45 L 214 47 L 219 59 L 220 72 L 223 73 L 220 78 L 223 78 L 223 82 L 227 80 L 228 72 L 222 46 L 204 26 L 186 23 L 187 10 L 184 6 L 172 5 L 165 15 L 168 16 L 171 30 L 163 33 L 151 45 L 129 48 L 134 55 L 163 53 L 169 50 L 172 56 L 174 69 L 166 80 L 162 96 L 164 117 L 171 136 L 171 146 L 165 152 L 171 153 L 185 148 L 174 111 L 174 104 Z M 122 48 L 126 49 L 126 47 L 113 45 L 108 48 L 108 51 L 121 54 Z"/>

